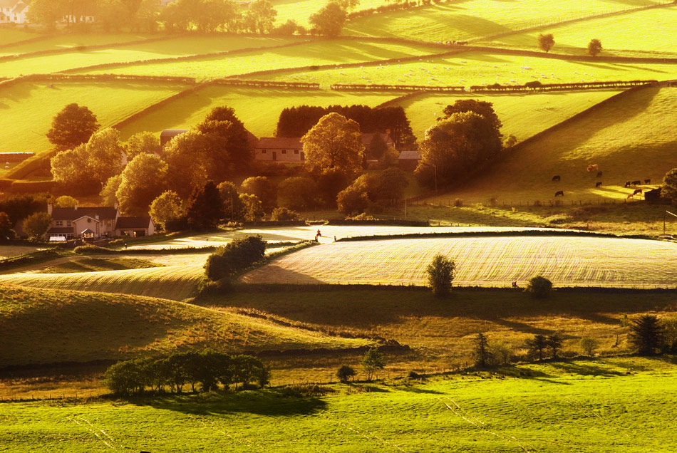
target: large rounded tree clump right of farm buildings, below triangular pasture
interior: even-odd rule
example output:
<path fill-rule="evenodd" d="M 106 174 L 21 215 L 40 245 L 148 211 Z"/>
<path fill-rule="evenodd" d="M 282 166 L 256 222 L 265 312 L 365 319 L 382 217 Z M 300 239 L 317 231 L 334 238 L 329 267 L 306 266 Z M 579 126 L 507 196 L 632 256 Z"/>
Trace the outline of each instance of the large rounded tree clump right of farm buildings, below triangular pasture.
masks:
<path fill-rule="evenodd" d="M 443 110 L 444 117 L 425 131 L 414 172 L 419 184 L 435 188 L 459 184 L 481 172 L 500 156 L 501 121 L 492 103 L 457 100 Z"/>

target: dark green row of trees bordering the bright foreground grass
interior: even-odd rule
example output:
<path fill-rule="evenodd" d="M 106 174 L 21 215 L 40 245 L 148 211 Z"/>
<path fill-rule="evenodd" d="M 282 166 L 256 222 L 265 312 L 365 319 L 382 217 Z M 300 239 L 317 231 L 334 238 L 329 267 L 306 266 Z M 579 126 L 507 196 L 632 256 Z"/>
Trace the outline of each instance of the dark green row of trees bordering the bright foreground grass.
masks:
<path fill-rule="evenodd" d="M 180 393 L 190 385 L 192 392 L 218 390 L 219 384 L 263 387 L 270 371 L 251 355 L 228 355 L 212 350 L 202 353 L 177 353 L 168 358 L 125 360 L 105 371 L 105 385 L 115 395 L 138 395 L 151 392 Z"/>

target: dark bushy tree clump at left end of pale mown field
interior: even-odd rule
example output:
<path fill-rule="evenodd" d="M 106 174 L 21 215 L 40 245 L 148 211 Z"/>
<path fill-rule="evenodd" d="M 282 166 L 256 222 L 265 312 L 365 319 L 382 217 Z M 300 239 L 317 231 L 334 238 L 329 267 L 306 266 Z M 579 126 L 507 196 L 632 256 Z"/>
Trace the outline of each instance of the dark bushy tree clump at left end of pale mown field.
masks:
<path fill-rule="evenodd" d="M 261 261 L 266 253 L 266 241 L 261 236 L 249 236 L 219 247 L 207 258 L 205 271 L 212 281 L 234 276 Z"/>

